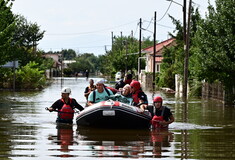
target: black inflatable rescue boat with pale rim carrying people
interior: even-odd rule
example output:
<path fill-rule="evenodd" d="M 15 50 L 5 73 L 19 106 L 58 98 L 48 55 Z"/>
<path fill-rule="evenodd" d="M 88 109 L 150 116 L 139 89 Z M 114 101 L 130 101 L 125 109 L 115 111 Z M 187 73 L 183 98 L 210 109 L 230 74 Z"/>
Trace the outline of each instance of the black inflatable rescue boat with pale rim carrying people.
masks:
<path fill-rule="evenodd" d="M 76 118 L 78 127 L 149 128 L 151 114 L 118 101 L 102 101 L 86 107 Z"/>

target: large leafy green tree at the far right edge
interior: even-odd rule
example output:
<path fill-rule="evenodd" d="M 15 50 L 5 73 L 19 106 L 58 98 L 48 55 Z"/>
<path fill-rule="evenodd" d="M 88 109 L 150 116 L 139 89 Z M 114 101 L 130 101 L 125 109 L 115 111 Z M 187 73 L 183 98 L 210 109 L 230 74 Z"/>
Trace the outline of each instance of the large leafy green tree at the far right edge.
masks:
<path fill-rule="evenodd" d="M 228 92 L 235 86 L 235 3 L 216 0 L 210 5 L 193 39 L 194 74 L 199 80 L 219 80 Z"/>

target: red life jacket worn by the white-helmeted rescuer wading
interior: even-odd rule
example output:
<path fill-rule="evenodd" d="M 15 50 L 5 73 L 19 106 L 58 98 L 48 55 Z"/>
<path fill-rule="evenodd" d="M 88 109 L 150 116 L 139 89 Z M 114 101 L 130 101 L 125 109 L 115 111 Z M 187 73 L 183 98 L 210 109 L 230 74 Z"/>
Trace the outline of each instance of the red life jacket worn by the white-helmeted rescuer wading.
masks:
<path fill-rule="evenodd" d="M 64 120 L 73 119 L 74 110 L 72 106 L 70 105 L 72 103 L 72 99 L 69 98 L 70 104 L 66 104 L 62 98 L 61 98 L 61 101 L 64 103 L 64 105 L 58 112 L 59 118 L 64 119 Z"/>

